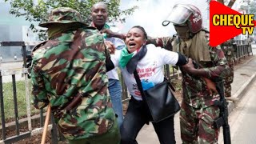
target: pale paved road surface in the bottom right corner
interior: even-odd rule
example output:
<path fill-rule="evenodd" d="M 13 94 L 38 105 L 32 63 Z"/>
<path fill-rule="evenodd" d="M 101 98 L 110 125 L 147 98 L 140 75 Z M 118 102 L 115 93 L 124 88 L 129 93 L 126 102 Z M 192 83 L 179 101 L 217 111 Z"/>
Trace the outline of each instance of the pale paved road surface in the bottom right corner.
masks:
<path fill-rule="evenodd" d="M 256 81 L 230 114 L 232 144 L 256 143 Z"/>

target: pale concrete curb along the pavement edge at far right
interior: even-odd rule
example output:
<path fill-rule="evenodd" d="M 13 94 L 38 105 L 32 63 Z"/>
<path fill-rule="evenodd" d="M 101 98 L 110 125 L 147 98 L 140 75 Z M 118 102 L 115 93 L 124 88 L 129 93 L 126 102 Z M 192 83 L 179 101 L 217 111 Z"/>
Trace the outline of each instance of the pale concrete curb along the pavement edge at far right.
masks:
<path fill-rule="evenodd" d="M 256 72 L 250 76 L 249 80 L 244 83 L 240 89 L 232 95 L 232 97 L 234 98 L 238 98 L 238 102 L 240 101 L 240 99 L 246 94 L 246 91 L 250 88 L 250 85 L 252 84 L 252 82 L 254 82 L 254 80 L 256 79 Z M 229 105 L 228 105 L 228 111 L 229 111 L 229 114 L 234 110 L 235 108 L 235 102 L 232 102 L 232 101 L 228 101 L 229 102 Z"/>

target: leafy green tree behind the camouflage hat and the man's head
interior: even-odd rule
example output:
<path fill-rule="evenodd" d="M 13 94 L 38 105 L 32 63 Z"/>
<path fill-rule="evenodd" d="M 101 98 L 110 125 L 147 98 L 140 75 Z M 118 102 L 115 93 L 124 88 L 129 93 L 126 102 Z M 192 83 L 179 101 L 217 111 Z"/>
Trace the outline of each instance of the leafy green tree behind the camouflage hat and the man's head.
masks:
<path fill-rule="evenodd" d="M 125 17 L 134 12 L 137 6 L 126 10 L 120 10 L 120 0 L 5 0 L 10 2 L 10 14 L 16 17 L 24 16 L 29 22 L 46 22 L 50 10 L 57 7 L 70 7 L 81 13 L 85 22 L 90 22 L 90 10 L 96 2 L 106 2 L 109 10 L 109 21 L 125 22 Z M 38 29 L 30 24 L 30 29 L 38 33 L 40 40 L 46 40 L 46 30 Z"/>

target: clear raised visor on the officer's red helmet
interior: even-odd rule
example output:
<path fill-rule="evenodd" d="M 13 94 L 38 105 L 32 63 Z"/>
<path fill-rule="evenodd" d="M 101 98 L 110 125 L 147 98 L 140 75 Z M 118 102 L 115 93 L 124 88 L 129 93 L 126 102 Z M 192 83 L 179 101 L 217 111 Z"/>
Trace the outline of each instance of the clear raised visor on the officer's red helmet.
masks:
<path fill-rule="evenodd" d="M 167 26 L 170 22 L 174 23 L 174 25 L 185 24 L 191 13 L 191 10 L 187 9 L 186 6 L 174 6 L 168 18 L 162 22 L 162 25 Z"/>

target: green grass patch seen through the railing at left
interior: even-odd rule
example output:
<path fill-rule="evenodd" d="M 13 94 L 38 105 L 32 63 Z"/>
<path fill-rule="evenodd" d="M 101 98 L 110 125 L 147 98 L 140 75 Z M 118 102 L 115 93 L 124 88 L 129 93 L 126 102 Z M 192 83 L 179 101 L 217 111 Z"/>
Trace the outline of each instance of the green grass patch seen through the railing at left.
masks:
<path fill-rule="evenodd" d="M 6 82 L 2 85 L 3 92 L 3 102 L 4 102 L 4 112 L 5 121 L 9 122 L 10 119 L 15 118 L 14 112 L 14 94 L 13 94 L 13 84 L 12 82 Z M 31 83 L 29 80 L 29 90 L 31 90 Z M 16 92 L 17 92 L 17 105 L 18 105 L 18 118 L 26 117 L 26 85 L 25 81 L 16 82 Z M 34 109 L 30 106 L 31 115 L 38 114 L 40 110 Z M 0 118 L 2 116 L 0 115 Z"/>

